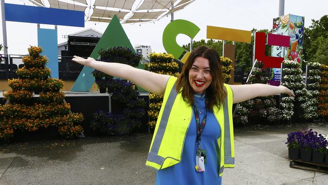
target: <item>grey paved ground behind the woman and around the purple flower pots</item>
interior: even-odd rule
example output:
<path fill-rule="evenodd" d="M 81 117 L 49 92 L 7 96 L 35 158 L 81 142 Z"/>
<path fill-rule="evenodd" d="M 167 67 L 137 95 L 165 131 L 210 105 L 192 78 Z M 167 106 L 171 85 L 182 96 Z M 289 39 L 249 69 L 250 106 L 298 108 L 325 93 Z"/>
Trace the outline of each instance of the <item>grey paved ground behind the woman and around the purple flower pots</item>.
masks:
<path fill-rule="evenodd" d="M 237 129 L 236 167 L 223 184 L 328 184 L 328 174 L 289 167 L 287 133 L 327 124 Z M 151 134 L 47 140 L 0 146 L 0 184 L 154 184 L 145 161 Z"/>

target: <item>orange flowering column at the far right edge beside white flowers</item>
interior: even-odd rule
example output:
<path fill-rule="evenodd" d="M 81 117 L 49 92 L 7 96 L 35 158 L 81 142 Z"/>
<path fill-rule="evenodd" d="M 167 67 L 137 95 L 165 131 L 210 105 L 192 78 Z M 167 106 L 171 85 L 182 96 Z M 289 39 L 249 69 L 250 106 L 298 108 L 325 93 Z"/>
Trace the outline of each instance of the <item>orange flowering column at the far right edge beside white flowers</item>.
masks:
<path fill-rule="evenodd" d="M 322 71 L 320 74 L 321 80 L 319 83 L 318 109 L 319 116 L 328 116 L 328 66 L 321 65 Z"/>

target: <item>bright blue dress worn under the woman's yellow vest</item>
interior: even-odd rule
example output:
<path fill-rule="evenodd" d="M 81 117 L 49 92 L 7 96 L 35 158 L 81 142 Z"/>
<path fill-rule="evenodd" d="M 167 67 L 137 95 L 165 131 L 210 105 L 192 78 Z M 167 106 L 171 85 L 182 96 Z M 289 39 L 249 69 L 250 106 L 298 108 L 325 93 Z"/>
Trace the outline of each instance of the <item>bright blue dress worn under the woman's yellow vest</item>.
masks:
<path fill-rule="evenodd" d="M 194 95 L 195 105 L 201 114 L 200 122 L 205 116 L 205 94 Z M 157 170 L 156 185 L 172 184 L 221 184 L 221 177 L 218 176 L 218 146 L 217 139 L 220 137 L 221 128 L 218 125 L 214 114 L 207 110 L 206 125 L 201 134 L 201 148 L 206 151 L 206 164 L 204 172 L 196 172 L 196 120 L 193 113 L 180 163 L 168 168 Z M 178 124 L 178 123 L 177 123 Z"/>

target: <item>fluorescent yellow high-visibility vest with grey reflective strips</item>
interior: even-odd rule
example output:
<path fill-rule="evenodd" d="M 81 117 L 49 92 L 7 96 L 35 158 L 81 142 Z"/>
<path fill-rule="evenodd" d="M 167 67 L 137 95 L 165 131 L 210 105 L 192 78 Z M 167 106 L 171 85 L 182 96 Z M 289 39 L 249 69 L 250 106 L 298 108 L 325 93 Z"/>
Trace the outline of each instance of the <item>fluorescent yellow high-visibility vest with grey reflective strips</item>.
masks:
<path fill-rule="evenodd" d="M 176 91 L 176 77 L 170 77 L 159 111 L 152 137 L 146 165 L 157 170 L 173 166 L 181 161 L 183 145 L 192 119 L 192 106 Z M 214 106 L 214 116 L 220 125 L 221 134 L 217 140 L 220 154 L 218 175 L 222 176 L 225 167 L 234 167 L 234 130 L 232 118 L 233 92 L 224 84 L 227 97 L 220 109 Z"/>

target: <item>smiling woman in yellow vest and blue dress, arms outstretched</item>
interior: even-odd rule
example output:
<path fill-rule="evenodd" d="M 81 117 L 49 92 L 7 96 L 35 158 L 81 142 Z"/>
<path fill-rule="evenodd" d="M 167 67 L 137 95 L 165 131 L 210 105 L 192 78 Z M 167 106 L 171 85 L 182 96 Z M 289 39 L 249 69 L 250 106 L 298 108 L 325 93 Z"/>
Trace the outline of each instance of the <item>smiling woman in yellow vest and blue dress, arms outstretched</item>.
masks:
<path fill-rule="evenodd" d="M 191 52 L 178 78 L 92 58 L 72 60 L 164 96 L 146 162 L 158 170 L 156 184 L 221 184 L 223 169 L 234 167 L 232 104 L 295 96 L 282 85 L 224 84 L 220 57 L 207 47 Z"/>

